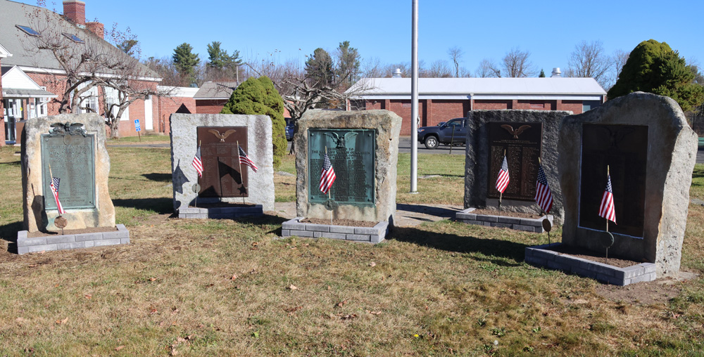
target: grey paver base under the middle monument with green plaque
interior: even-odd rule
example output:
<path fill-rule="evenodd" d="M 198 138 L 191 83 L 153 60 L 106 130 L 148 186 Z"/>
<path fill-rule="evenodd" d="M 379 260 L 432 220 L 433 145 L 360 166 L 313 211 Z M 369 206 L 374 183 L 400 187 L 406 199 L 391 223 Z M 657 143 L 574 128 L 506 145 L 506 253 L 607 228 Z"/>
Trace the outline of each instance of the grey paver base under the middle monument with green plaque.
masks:
<path fill-rule="evenodd" d="M 330 224 L 301 223 L 303 217 L 285 221 L 281 226 L 281 236 L 310 238 L 331 238 L 355 242 L 379 243 L 389 233 L 389 222 L 383 221 L 373 227 L 334 226 Z"/>

